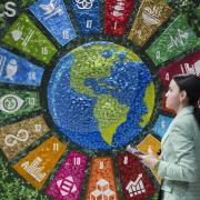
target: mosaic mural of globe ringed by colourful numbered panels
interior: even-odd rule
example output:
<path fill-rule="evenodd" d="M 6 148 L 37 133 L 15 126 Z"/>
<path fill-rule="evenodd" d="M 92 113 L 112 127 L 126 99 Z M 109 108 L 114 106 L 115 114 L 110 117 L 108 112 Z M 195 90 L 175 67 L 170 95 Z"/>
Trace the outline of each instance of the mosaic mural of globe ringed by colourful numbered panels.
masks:
<path fill-rule="evenodd" d="M 157 198 L 127 146 L 159 157 L 172 76 L 200 76 L 199 10 L 181 2 L 0 3 L 0 199 Z"/>

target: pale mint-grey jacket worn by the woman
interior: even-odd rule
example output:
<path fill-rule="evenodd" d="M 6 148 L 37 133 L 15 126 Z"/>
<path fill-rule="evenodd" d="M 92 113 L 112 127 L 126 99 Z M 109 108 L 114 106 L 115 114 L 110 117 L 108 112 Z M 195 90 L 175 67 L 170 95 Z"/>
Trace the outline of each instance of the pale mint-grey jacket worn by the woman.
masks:
<path fill-rule="evenodd" d="M 200 200 L 200 129 L 192 112 L 183 108 L 161 140 L 164 200 Z"/>

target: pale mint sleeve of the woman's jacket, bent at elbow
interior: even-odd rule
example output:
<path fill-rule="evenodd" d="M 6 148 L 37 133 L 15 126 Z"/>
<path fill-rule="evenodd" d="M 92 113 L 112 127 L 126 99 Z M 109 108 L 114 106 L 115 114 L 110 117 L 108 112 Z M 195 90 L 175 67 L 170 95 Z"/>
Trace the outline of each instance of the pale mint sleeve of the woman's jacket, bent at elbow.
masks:
<path fill-rule="evenodd" d="M 188 127 L 189 126 L 189 127 Z M 170 133 L 171 151 L 174 153 L 174 161 L 161 160 L 158 166 L 158 173 L 161 178 L 169 180 L 196 182 L 197 160 L 194 152 L 194 139 L 191 124 L 179 121 Z M 188 131 L 190 130 L 190 131 Z"/>

